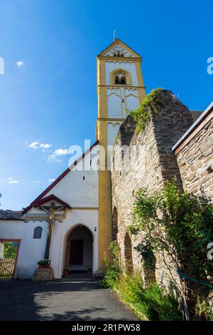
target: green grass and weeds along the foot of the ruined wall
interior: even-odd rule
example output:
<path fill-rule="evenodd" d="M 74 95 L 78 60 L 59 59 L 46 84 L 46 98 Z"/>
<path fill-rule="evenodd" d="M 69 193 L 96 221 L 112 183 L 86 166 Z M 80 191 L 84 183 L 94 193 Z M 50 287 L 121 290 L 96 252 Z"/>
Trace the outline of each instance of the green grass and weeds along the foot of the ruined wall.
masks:
<path fill-rule="evenodd" d="M 127 304 L 141 320 L 177 320 L 181 314 L 178 311 L 178 301 L 173 294 L 165 292 L 156 284 L 143 288 L 139 274 L 122 274 L 124 271 L 119 262 L 119 246 L 111 242 L 109 246 L 110 259 L 105 257 L 106 274 L 101 286 L 113 289 L 121 301 Z"/>

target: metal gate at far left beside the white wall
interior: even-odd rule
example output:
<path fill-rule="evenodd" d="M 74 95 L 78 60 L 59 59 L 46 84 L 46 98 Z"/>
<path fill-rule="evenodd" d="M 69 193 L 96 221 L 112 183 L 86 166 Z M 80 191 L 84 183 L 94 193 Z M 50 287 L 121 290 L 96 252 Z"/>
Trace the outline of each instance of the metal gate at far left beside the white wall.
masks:
<path fill-rule="evenodd" d="M 0 239 L 0 279 L 13 279 L 21 239 Z"/>

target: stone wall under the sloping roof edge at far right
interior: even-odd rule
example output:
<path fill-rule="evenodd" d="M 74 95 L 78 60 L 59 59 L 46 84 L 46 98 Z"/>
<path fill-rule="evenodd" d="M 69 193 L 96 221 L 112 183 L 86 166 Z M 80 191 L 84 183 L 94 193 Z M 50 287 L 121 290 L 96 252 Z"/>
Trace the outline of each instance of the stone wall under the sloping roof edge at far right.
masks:
<path fill-rule="evenodd" d="M 174 151 L 184 189 L 205 195 L 213 204 L 213 108 Z"/>

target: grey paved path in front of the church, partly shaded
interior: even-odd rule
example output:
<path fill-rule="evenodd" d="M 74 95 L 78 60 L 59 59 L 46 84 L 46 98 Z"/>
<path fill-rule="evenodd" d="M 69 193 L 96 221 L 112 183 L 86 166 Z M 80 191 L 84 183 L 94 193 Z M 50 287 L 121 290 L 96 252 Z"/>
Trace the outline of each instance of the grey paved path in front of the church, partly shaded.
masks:
<path fill-rule="evenodd" d="M 0 320 L 136 320 L 92 279 L 0 281 Z"/>

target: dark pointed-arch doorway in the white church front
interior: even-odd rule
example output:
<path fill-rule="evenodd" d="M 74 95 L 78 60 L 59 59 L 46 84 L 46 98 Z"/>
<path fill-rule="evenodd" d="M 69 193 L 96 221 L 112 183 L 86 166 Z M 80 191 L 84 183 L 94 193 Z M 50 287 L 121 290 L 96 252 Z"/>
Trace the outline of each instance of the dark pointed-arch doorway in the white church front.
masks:
<path fill-rule="evenodd" d="M 93 236 L 84 225 L 77 225 L 67 236 L 65 267 L 70 272 L 91 272 L 93 263 Z"/>

